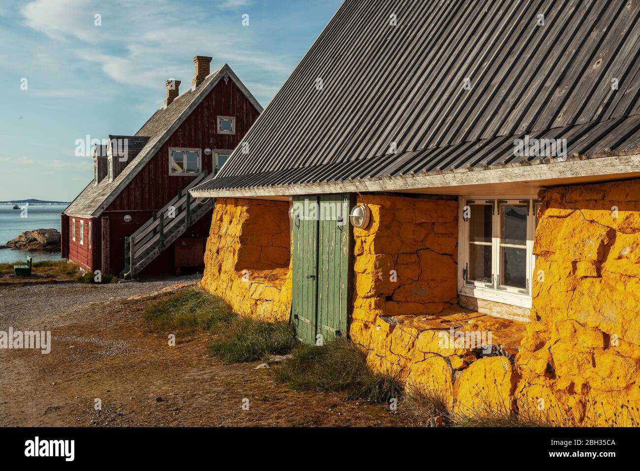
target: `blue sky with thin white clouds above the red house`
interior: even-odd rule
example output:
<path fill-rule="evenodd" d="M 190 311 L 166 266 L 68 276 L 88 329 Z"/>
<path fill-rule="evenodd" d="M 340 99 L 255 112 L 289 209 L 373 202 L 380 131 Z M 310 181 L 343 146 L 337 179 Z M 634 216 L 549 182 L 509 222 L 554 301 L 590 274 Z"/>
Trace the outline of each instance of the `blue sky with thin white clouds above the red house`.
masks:
<path fill-rule="evenodd" d="M 134 134 L 166 79 L 191 82 L 195 55 L 227 62 L 266 106 L 340 3 L 2 0 L 0 201 L 72 200 L 93 178 L 76 140 Z"/>

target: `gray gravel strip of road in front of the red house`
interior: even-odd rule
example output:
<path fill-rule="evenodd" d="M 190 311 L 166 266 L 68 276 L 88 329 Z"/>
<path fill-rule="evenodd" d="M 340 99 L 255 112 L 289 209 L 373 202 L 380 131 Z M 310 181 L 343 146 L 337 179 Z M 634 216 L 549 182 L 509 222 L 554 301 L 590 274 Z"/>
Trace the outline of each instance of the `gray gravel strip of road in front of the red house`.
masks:
<path fill-rule="evenodd" d="M 0 331 L 9 327 L 14 330 L 40 330 L 63 326 L 71 319 L 77 322 L 83 313 L 86 316 L 99 314 L 92 311 L 92 305 L 97 302 L 122 301 L 132 295 L 196 279 L 197 276 L 182 276 L 109 285 L 54 283 L 1 288 Z"/>

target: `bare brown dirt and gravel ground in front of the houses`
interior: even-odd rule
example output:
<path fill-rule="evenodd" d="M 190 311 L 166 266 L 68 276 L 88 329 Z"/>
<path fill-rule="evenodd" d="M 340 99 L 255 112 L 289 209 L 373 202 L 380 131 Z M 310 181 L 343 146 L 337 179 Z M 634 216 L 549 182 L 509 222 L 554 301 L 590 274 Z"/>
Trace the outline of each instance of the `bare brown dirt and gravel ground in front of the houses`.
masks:
<path fill-rule="evenodd" d="M 50 354 L 0 350 L 0 426 L 406 425 L 380 406 L 289 390 L 269 370 L 253 369 L 257 363 L 221 365 L 205 355 L 204 334 L 170 347 L 164 336 L 145 331 L 145 301 L 125 301 L 175 279 L 154 283 L 122 291 L 118 285 L 86 292 L 79 285 L 29 286 L 28 295 L 8 293 L 24 288 L 0 290 L 0 330 L 49 326 L 53 336 Z M 22 318 L 5 311 L 20 303 L 40 309 Z"/>

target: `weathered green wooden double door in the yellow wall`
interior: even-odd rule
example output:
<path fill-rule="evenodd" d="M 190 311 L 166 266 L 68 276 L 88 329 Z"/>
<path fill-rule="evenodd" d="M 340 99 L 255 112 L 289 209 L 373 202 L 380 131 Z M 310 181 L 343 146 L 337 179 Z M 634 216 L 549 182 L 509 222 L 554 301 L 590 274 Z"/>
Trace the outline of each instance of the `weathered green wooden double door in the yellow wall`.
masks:
<path fill-rule="evenodd" d="M 346 336 L 353 232 L 348 194 L 293 199 L 293 323 L 301 340 Z"/>

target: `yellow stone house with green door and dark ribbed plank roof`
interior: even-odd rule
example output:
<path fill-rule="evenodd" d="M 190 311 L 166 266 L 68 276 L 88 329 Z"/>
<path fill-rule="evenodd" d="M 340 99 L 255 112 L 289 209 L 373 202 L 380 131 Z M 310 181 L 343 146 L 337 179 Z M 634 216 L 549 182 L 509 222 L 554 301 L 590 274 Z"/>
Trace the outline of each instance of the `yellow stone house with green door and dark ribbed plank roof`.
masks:
<path fill-rule="evenodd" d="M 637 425 L 639 17 L 344 1 L 191 191 L 202 285 L 456 411 Z"/>

